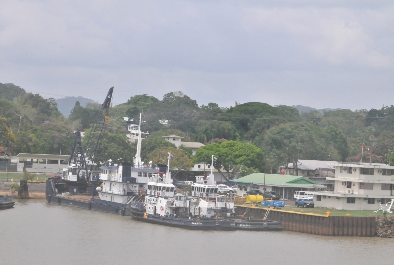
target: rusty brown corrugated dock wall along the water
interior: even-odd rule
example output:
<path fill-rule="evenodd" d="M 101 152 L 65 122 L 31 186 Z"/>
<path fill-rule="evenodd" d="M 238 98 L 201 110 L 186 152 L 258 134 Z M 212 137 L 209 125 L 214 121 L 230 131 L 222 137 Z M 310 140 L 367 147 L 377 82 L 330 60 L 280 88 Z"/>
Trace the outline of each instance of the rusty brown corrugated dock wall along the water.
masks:
<path fill-rule="evenodd" d="M 267 211 L 264 208 L 236 206 L 237 215 L 251 219 L 262 219 Z M 375 217 L 323 216 L 308 213 L 294 213 L 273 209 L 268 214 L 271 221 L 281 222 L 288 231 L 327 236 L 375 236 Z"/>

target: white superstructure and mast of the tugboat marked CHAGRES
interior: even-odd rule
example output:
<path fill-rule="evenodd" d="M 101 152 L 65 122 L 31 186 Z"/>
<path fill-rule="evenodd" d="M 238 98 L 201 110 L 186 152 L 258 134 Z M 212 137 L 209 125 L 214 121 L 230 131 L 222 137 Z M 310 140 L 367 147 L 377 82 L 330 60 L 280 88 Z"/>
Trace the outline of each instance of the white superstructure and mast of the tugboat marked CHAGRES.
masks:
<path fill-rule="evenodd" d="M 217 185 L 214 180 L 214 156 L 212 155 L 211 174 L 196 177 L 196 183 L 191 185 L 191 213 L 199 217 L 230 217 L 234 213 L 235 193 L 217 195 Z"/>

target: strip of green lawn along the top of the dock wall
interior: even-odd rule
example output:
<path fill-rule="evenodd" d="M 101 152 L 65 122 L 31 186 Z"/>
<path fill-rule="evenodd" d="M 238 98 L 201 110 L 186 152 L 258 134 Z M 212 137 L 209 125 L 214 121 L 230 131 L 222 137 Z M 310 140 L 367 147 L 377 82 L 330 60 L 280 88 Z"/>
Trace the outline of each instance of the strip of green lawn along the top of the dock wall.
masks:
<path fill-rule="evenodd" d="M 285 202 L 286 204 L 286 202 Z M 264 206 L 256 206 L 258 208 L 268 208 Z M 379 209 L 379 204 L 377 204 L 376 209 Z M 292 206 L 284 206 L 281 208 L 284 211 L 299 211 L 301 213 L 317 213 L 317 214 L 322 214 L 326 215 L 327 211 L 330 211 L 330 216 L 346 216 L 347 213 L 350 213 L 350 216 L 361 216 L 361 217 L 368 217 L 368 216 L 373 216 L 373 215 L 382 215 L 382 211 L 379 211 L 379 213 L 374 213 L 374 211 L 356 211 L 356 210 L 334 210 L 334 209 L 324 209 L 320 207 L 315 207 L 315 208 L 296 208 Z M 393 209 L 394 210 L 394 209 Z M 394 213 L 388 213 L 387 215 L 394 215 Z"/>

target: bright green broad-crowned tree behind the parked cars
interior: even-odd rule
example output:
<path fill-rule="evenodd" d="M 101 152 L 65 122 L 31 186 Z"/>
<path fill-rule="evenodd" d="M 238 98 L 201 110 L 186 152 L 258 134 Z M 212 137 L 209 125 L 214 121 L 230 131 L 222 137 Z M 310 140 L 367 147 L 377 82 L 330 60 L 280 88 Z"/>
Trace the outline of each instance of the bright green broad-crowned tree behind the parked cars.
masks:
<path fill-rule="evenodd" d="M 240 172 L 245 170 L 245 167 L 247 169 L 264 169 L 264 153 L 260 148 L 250 143 L 236 141 L 225 141 L 220 144 L 211 143 L 197 149 L 193 162 L 201 163 L 206 161 L 210 163 L 212 155 L 217 158 L 215 168 L 227 181 L 238 178 Z M 227 176 L 221 171 L 222 163 Z"/>

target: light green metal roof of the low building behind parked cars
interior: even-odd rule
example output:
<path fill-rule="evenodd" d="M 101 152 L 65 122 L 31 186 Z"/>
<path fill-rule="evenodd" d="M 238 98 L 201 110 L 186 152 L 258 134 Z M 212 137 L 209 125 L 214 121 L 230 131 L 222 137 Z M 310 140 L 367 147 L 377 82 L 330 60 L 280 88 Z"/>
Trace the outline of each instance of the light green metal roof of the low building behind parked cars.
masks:
<path fill-rule="evenodd" d="M 253 173 L 242 178 L 237 178 L 236 180 L 230 180 L 234 183 L 254 183 L 263 184 L 264 183 L 264 173 Z M 291 175 L 280 175 L 280 174 L 266 174 L 266 185 L 277 185 L 277 186 L 310 186 L 317 185 L 318 187 L 325 187 L 320 185 L 308 178 L 300 176 Z"/>

